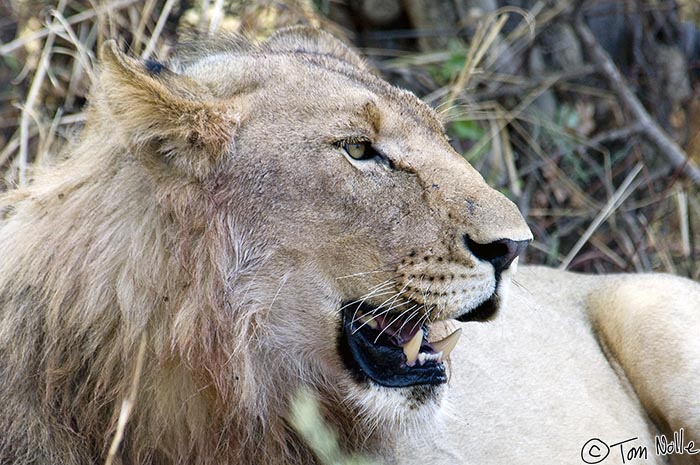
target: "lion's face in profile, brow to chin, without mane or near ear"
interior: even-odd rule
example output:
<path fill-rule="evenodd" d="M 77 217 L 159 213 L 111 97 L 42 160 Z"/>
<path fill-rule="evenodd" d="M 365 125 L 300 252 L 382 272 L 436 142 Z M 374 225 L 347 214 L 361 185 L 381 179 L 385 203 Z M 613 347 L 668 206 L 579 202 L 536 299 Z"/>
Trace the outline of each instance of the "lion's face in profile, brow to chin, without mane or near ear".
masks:
<path fill-rule="evenodd" d="M 209 111 L 234 113 L 203 124 L 235 127 L 228 145 L 200 143 L 223 147 L 214 167 L 187 166 L 213 180 L 241 248 L 265 251 L 237 281 L 265 314 L 264 359 L 367 402 L 444 384 L 459 333 L 431 325 L 498 309 L 531 239 L 516 207 L 451 148 L 432 110 L 325 34 L 286 31 L 181 73 L 206 89 Z"/>

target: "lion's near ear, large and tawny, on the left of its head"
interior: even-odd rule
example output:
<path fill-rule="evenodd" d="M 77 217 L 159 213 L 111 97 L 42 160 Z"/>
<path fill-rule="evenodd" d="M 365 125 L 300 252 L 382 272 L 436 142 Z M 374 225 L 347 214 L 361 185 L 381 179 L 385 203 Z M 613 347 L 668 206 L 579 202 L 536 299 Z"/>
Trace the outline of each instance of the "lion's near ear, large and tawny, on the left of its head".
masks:
<path fill-rule="evenodd" d="M 232 150 L 238 114 L 204 86 L 124 55 L 113 40 L 103 45 L 101 59 L 101 93 L 115 130 L 147 161 L 203 178 Z"/>

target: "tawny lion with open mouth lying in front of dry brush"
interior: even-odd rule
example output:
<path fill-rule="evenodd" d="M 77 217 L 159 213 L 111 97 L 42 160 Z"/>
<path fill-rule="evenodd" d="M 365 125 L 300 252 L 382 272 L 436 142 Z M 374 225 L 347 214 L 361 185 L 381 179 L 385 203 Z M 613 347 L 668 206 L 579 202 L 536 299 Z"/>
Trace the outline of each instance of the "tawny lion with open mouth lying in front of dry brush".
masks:
<path fill-rule="evenodd" d="M 341 41 L 101 62 L 0 197 L 0 463 L 320 463 L 301 390 L 374 463 L 697 463 L 700 286 L 515 274 L 515 205 Z"/>

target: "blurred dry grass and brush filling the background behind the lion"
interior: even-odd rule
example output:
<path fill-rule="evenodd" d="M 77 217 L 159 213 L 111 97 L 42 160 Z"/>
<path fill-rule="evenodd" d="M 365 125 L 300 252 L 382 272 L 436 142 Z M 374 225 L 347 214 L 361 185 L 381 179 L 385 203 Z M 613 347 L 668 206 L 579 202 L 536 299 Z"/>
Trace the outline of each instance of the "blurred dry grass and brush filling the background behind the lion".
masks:
<path fill-rule="evenodd" d="M 291 24 L 354 44 L 446 121 L 515 200 L 530 263 L 700 277 L 698 183 L 669 163 L 600 73 L 583 17 L 664 133 L 700 162 L 695 0 L 14 0 L 0 3 L 0 190 L 31 182 L 84 123 L 95 50 L 167 59 L 190 31 L 262 39 Z"/>

